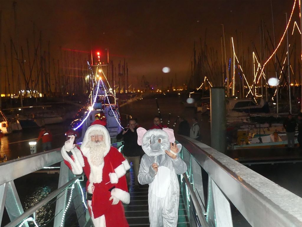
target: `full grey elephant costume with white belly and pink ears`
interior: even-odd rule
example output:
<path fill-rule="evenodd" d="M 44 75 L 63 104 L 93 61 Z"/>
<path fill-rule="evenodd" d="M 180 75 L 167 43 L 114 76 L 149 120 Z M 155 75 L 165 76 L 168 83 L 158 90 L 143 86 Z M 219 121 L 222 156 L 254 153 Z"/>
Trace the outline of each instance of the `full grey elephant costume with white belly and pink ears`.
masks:
<path fill-rule="evenodd" d="M 177 155 L 175 159 L 166 151 L 170 150 L 170 143 L 175 142 L 172 129 L 137 129 L 137 143 L 142 146 L 145 154 L 140 163 L 138 181 L 149 184 L 148 205 L 150 227 L 176 227 L 178 220 L 179 183 L 176 174 L 183 174 L 187 170 L 185 162 Z M 182 149 L 177 144 L 178 152 Z M 171 151 L 175 155 L 174 152 Z M 175 157 L 175 156 L 174 156 Z M 158 171 L 152 164 L 158 164 Z"/>

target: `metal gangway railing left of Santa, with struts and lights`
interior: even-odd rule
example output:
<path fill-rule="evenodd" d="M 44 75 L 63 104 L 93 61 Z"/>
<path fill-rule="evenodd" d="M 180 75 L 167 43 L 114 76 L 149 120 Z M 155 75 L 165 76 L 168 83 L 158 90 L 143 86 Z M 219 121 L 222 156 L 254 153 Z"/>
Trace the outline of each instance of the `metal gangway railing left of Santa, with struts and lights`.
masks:
<path fill-rule="evenodd" d="M 112 146 L 119 149 L 121 142 L 114 143 Z M 59 163 L 60 167 L 49 167 Z M 58 189 L 48 194 L 44 199 L 35 201 L 36 203 L 24 212 L 24 206 L 14 184 L 14 180 L 34 173 L 46 167 L 59 168 Z M 47 168 L 48 169 L 48 168 Z M 61 149 L 50 150 L 37 153 L 16 160 L 11 160 L 0 164 L 0 225 L 2 224 L 4 208 L 6 209 L 10 223 L 5 227 L 28 227 L 28 226 L 64 226 L 68 217 L 73 215 L 73 222 L 77 222 L 80 227 L 92 226 L 92 221 L 87 211 L 85 192 L 80 185 L 81 176 L 75 176 L 66 166 L 61 155 Z M 28 185 L 31 187 L 31 185 Z M 36 198 L 34 198 L 36 199 Z M 43 220 L 39 225 L 37 214 L 44 207 L 52 207 L 54 213 L 49 220 Z M 70 206 L 73 206 L 70 209 Z M 72 219 L 71 218 L 71 219 Z M 67 220 L 69 221 L 69 220 Z M 70 224 L 70 223 L 69 223 Z M 65 226 L 70 226 L 70 225 Z"/>

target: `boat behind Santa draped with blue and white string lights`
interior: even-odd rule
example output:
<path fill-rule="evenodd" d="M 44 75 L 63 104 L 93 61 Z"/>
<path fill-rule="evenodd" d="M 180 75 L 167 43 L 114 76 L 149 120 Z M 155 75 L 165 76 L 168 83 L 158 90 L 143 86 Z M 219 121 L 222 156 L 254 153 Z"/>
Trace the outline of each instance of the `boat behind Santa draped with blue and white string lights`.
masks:
<path fill-rule="evenodd" d="M 72 129 L 79 133 L 80 138 L 77 142 L 81 143 L 86 129 L 94 120 L 106 120 L 106 128 L 111 141 L 114 141 L 117 134 L 123 129 L 115 91 L 111 88 L 101 64 L 91 67 L 88 63 L 88 68 L 92 89 L 87 105 L 78 110 L 75 119 L 72 121 Z"/>

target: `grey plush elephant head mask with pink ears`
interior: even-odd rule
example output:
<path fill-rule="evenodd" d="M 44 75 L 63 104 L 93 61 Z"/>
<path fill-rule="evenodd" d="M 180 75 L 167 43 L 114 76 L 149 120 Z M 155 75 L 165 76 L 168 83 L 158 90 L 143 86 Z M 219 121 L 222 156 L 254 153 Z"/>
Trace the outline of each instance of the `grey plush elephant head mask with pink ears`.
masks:
<path fill-rule="evenodd" d="M 173 129 L 137 129 L 137 143 L 142 146 L 143 151 L 148 156 L 159 156 L 169 150 L 170 142 L 175 142 Z"/>

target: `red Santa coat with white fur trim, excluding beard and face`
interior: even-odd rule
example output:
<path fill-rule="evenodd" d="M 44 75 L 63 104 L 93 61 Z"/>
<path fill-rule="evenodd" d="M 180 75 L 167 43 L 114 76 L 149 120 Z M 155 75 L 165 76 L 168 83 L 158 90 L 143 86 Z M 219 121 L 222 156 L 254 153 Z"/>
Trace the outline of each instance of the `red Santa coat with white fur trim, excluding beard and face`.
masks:
<path fill-rule="evenodd" d="M 95 130 L 95 127 L 93 129 Z M 89 193 L 92 193 L 92 210 L 88 206 L 90 215 L 92 216 L 93 214 L 94 219 L 104 215 L 106 227 L 129 226 L 121 202 L 127 204 L 130 202 L 130 194 L 128 193 L 125 177 L 126 171 L 130 169 L 130 165 L 114 147 L 108 147 L 109 151 L 105 153 L 104 163 L 99 166 L 93 165 L 89 149 L 85 148 L 85 137 L 82 151 L 79 150 L 79 147 L 75 147 L 71 150 L 72 156 L 70 157 L 63 146 L 61 153 L 64 162 L 72 170 L 72 173 L 82 174 L 84 170 L 87 176 L 86 189 Z M 111 196 L 120 201 L 116 205 L 112 205 L 113 200 L 109 200 Z"/>

